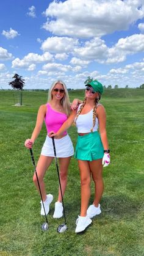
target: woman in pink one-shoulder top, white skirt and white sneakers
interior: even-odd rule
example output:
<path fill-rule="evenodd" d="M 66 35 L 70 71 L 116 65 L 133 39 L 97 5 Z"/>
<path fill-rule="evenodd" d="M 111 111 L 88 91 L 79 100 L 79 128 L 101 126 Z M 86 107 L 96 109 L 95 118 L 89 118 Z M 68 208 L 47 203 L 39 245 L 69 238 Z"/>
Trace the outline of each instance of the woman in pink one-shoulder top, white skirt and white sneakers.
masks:
<path fill-rule="evenodd" d="M 77 103 L 77 100 L 75 102 Z M 75 104 L 73 101 L 73 108 L 77 107 L 76 105 L 77 104 Z M 35 139 L 37 139 L 37 136 L 40 133 L 44 120 L 47 132 L 49 133 L 50 131 L 54 131 L 56 133 L 59 130 L 60 126 L 62 126 L 62 124 L 68 119 L 70 112 L 70 100 L 68 97 L 67 87 L 65 86 L 64 82 L 56 81 L 49 89 L 48 103 L 41 105 L 38 110 L 37 122 L 31 139 L 26 139 L 24 145 L 27 148 L 32 148 Z M 71 156 L 74 155 L 74 149 L 71 139 L 67 134 L 67 131 L 64 131 L 59 137 L 57 137 L 57 139 L 55 140 L 55 144 L 57 148 L 57 157 L 59 158 L 62 194 L 64 195 L 67 186 L 68 166 L 70 164 Z M 43 177 L 53 159 L 54 149 L 52 145 L 52 139 L 49 138 L 47 135 L 45 143 L 43 144 L 43 148 L 41 150 L 40 158 L 38 159 L 37 163 L 37 175 L 40 183 L 41 195 L 43 198 L 46 215 L 49 213 L 49 205 L 53 200 L 53 196 L 52 194 L 46 194 Z M 33 181 L 37 190 L 39 191 L 37 177 L 35 174 L 33 177 Z M 43 203 L 41 202 L 41 215 L 45 215 Z M 62 216 L 62 197 L 59 189 L 59 196 L 57 202 L 55 203 L 53 218 L 61 218 Z"/>

